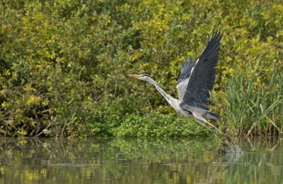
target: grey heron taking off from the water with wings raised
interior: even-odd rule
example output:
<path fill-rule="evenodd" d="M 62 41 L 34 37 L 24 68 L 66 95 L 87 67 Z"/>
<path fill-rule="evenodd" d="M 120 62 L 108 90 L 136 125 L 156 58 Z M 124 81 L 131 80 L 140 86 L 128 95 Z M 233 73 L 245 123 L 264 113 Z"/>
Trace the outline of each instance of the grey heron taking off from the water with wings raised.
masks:
<path fill-rule="evenodd" d="M 212 90 L 214 86 L 215 67 L 218 63 L 220 40 L 221 35 L 219 31 L 216 30 L 216 32 L 213 32 L 211 38 L 209 38 L 208 34 L 207 47 L 202 52 L 200 58 L 192 59 L 190 56 L 189 62 L 187 62 L 187 59 L 185 59 L 185 63 L 180 62 L 181 72 L 177 85 L 178 99 L 173 98 L 170 94 L 162 90 L 157 82 L 147 74 L 129 76 L 153 84 L 156 90 L 166 99 L 168 104 L 175 109 L 177 114 L 194 117 L 197 123 L 200 123 L 215 135 L 226 150 L 229 149 L 229 145 L 226 143 L 234 145 L 232 140 L 222 133 L 221 130 L 216 128 L 215 125 L 206 120 L 211 119 L 212 121 L 217 121 L 220 117 L 218 114 L 210 112 L 207 106 L 209 91 Z M 218 131 L 226 141 L 222 141 L 209 126 Z"/>

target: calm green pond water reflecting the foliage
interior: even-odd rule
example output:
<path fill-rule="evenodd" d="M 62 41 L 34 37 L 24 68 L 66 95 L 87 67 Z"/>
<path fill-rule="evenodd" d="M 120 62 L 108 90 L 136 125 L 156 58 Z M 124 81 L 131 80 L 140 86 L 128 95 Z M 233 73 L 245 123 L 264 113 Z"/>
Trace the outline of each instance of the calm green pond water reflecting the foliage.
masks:
<path fill-rule="evenodd" d="M 282 183 L 282 141 L 237 145 L 242 155 L 201 137 L 0 138 L 0 183 Z"/>

